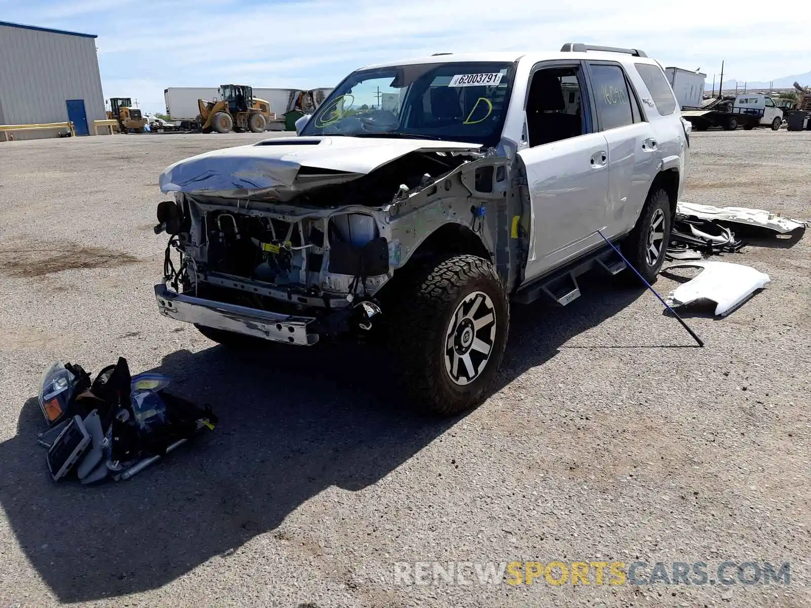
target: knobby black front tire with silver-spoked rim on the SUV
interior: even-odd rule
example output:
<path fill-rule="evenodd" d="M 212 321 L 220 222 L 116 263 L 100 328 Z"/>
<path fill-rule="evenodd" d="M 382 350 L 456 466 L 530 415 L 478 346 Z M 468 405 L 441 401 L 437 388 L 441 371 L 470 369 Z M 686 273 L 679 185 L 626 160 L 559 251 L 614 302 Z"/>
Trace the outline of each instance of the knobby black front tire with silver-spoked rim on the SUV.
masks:
<path fill-rule="evenodd" d="M 507 344 L 509 302 L 495 268 L 486 259 L 475 255 L 456 255 L 438 260 L 431 268 L 425 268 L 409 280 L 410 285 L 401 292 L 401 306 L 398 306 L 388 335 L 391 346 L 396 349 L 411 399 L 419 409 L 440 416 L 452 416 L 479 405 L 498 370 Z M 474 298 L 469 305 L 466 304 L 468 298 Z M 459 310 L 461 313 L 457 315 Z M 466 310 L 473 310 L 471 319 L 466 319 Z M 489 323 L 475 327 L 486 321 L 490 314 L 494 319 L 494 329 Z M 460 320 L 458 324 L 457 319 Z M 468 321 L 466 327 L 464 323 Z M 451 331 L 452 328 L 457 331 Z M 472 336 L 468 330 L 473 332 Z M 479 362 L 479 366 L 476 366 L 473 379 L 466 371 L 462 372 L 466 375 L 463 379 L 466 384 L 454 381 L 453 371 L 446 367 L 453 366 L 453 352 L 460 352 L 447 349 L 449 343 L 457 344 L 453 337 L 449 342 L 448 336 L 473 340 L 468 342 L 466 356 L 474 358 L 473 365 Z M 470 344 L 476 340 L 490 343 L 486 359 L 474 355 L 475 347 Z M 461 346 L 462 342 L 458 344 Z M 481 345 L 481 341 L 478 344 Z M 462 366 L 469 369 L 464 359 L 460 361 L 457 370 Z"/>

